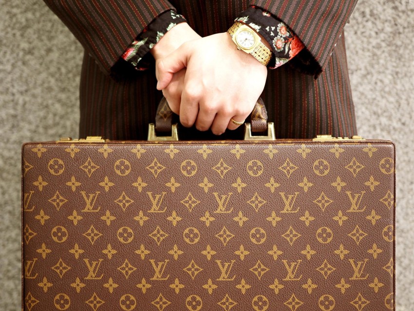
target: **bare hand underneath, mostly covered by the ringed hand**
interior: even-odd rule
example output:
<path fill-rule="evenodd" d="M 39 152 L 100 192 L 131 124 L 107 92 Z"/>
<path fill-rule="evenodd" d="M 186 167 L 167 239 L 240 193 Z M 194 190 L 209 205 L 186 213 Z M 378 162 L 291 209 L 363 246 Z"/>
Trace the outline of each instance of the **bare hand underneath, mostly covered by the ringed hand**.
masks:
<path fill-rule="evenodd" d="M 151 54 L 155 58 L 155 76 L 158 78 L 158 63 L 160 59 L 167 57 L 184 42 L 200 38 L 185 22 L 172 27 L 151 49 Z M 183 92 L 185 74 L 185 68 L 175 73 L 169 85 L 163 90 L 163 95 L 167 99 L 172 112 L 175 114 L 180 113 L 181 94 Z"/>

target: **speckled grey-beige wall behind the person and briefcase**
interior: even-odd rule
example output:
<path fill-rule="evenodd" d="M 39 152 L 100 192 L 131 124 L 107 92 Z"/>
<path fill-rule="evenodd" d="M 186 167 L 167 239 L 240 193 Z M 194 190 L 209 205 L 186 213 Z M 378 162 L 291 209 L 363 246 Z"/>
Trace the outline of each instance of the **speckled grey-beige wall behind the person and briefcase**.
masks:
<path fill-rule="evenodd" d="M 77 137 L 82 48 L 41 0 L 0 0 L 0 310 L 20 310 L 20 146 Z M 414 3 L 359 0 L 346 26 L 359 134 L 397 144 L 396 304 L 414 305 Z"/>

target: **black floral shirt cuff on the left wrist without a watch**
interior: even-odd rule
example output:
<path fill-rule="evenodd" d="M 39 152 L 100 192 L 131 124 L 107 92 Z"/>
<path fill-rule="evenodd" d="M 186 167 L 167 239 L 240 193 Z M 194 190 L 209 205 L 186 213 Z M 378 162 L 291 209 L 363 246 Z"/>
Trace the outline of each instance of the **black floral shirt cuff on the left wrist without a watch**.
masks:
<path fill-rule="evenodd" d="M 159 15 L 148 25 L 125 50 L 122 57 L 136 70 L 146 70 L 150 67 L 150 59 L 144 56 L 152 47 L 175 25 L 187 21 L 184 16 L 169 10 Z"/>

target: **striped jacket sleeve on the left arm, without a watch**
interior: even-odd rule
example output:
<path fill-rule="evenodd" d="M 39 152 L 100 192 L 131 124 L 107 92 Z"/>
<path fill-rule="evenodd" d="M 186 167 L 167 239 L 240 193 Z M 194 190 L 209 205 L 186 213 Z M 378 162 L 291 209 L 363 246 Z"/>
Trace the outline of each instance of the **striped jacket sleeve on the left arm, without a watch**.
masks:
<path fill-rule="evenodd" d="M 175 10 L 167 0 L 44 1 L 107 74 L 152 20 Z"/>

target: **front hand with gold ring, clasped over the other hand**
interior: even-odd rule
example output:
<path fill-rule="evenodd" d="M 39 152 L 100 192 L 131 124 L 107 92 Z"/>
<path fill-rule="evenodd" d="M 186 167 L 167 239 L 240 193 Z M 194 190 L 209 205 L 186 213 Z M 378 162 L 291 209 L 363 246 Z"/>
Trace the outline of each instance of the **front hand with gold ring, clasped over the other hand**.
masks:
<path fill-rule="evenodd" d="M 252 55 L 237 50 L 228 33 L 181 45 L 157 63 L 157 89 L 165 90 L 187 67 L 179 106 L 180 122 L 220 135 L 236 129 L 253 110 L 267 77 L 267 68 Z"/>

